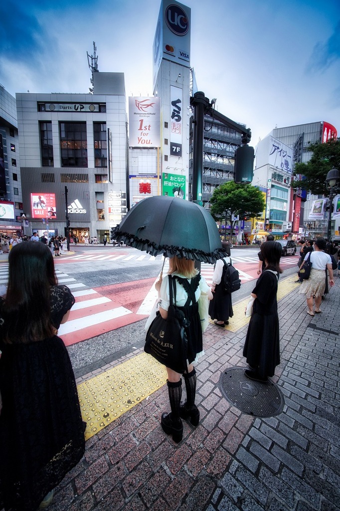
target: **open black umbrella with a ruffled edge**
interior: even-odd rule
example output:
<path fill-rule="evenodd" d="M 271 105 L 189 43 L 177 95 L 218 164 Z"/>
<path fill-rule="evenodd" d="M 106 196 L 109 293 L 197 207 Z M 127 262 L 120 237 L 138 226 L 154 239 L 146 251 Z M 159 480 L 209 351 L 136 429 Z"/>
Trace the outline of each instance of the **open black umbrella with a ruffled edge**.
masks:
<path fill-rule="evenodd" d="M 210 213 L 177 197 L 160 195 L 138 202 L 113 229 L 111 239 L 152 255 L 204 263 L 227 255 Z"/>

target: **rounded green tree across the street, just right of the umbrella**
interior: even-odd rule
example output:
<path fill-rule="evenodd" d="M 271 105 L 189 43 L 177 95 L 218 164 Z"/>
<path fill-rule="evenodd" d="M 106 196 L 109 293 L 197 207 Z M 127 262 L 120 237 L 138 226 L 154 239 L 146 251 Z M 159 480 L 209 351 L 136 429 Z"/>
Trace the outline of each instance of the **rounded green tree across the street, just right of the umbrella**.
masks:
<path fill-rule="evenodd" d="M 225 220 L 231 226 L 231 231 L 239 218 L 254 218 L 262 215 L 265 200 L 262 192 L 251 184 L 236 184 L 234 181 L 220 184 L 215 188 L 210 199 L 211 214 L 215 220 Z"/>

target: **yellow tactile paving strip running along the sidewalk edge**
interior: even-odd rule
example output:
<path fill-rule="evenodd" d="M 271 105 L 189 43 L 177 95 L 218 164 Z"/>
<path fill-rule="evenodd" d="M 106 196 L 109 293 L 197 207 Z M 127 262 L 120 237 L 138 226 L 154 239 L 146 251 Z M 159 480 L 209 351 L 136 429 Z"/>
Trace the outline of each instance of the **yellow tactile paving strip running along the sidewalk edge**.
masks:
<path fill-rule="evenodd" d="M 298 287 L 295 279 L 296 275 L 291 275 L 279 281 L 278 300 Z M 248 300 L 235 304 L 231 324 L 225 327 L 226 330 L 237 332 L 249 322 L 245 316 Z M 165 367 L 150 355 L 141 353 L 78 385 L 82 416 L 87 424 L 85 438 L 91 438 L 124 412 L 151 396 L 165 382 Z"/>

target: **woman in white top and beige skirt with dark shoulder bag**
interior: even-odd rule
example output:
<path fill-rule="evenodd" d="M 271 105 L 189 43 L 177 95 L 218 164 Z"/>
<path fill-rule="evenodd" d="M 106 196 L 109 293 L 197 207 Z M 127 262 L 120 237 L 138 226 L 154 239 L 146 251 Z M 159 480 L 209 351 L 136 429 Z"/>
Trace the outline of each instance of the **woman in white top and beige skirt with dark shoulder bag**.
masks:
<path fill-rule="evenodd" d="M 317 238 L 314 244 L 314 251 L 305 255 L 305 260 L 310 259 L 312 264 L 309 278 L 301 284 L 300 294 L 305 294 L 307 298 L 307 314 L 314 316 L 314 312 L 320 314 L 322 295 L 325 293 L 325 271 L 329 272 L 329 285 L 334 286 L 332 260 L 329 254 L 325 253 L 326 241 L 323 238 Z M 304 260 L 304 261 L 305 261 Z M 300 266 L 300 270 L 304 262 Z M 327 278 L 327 276 L 326 276 Z M 315 299 L 315 309 L 313 310 L 313 297 Z"/>

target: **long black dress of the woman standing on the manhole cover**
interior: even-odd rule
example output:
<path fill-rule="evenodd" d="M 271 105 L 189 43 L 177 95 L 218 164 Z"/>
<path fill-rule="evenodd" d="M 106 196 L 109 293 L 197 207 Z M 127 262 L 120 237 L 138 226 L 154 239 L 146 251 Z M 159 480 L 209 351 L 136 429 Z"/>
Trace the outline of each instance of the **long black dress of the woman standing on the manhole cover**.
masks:
<path fill-rule="evenodd" d="M 253 305 L 246 336 L 244 357 L 257 368 L 260 376 L 273 376 L 280 363 L 279 317 L 277 314 L 277 277 L 264 270 L 252 291 L 257 298 Z"/>

